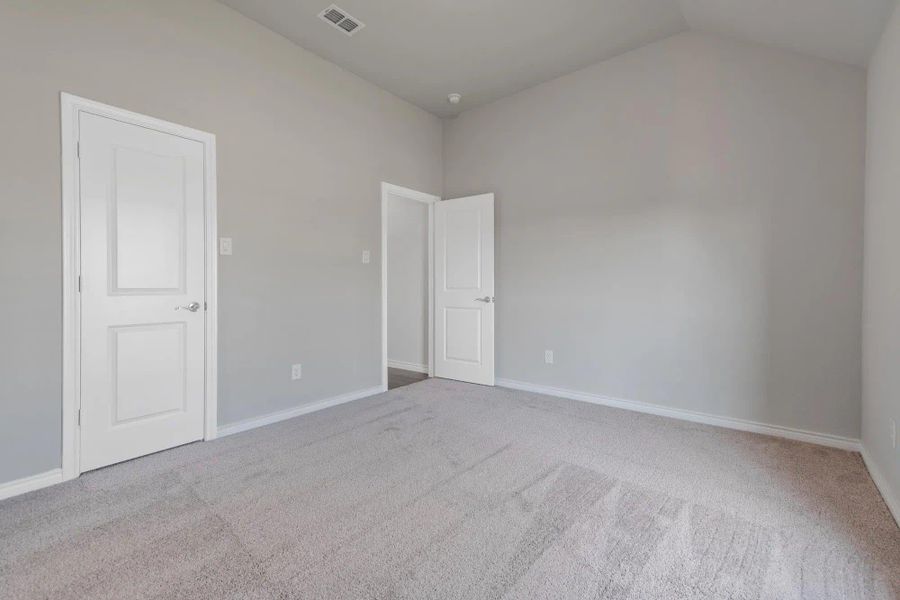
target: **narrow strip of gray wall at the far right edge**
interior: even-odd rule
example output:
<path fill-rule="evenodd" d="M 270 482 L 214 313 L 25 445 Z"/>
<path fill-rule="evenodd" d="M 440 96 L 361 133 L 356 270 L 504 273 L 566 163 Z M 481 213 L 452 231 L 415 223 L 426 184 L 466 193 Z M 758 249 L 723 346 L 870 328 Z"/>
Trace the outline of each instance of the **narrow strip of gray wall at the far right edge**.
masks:
<path fill-rule="evenodd" d="M 900 499 L 900 9 L 869 64 L 862 440 Z"/>

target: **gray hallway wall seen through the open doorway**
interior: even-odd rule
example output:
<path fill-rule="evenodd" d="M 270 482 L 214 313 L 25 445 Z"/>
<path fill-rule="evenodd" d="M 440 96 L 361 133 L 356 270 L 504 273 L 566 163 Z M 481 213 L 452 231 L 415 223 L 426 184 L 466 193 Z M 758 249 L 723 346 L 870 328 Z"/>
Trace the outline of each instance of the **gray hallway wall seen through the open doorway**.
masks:
<path fill-rule="evenodd" d="M 388 360 L 428 364 L 428 205 L 388 196 Z"/>

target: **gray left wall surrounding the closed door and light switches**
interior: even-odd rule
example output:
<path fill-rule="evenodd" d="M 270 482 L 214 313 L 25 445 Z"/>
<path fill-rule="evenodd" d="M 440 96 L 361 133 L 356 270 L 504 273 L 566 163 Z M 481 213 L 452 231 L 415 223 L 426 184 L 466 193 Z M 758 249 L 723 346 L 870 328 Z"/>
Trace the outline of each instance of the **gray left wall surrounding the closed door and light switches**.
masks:
<path fill-rule="evenodd" d="M 60 91 L 217 136 L 220 424 L 379 385 L 380 183 L 439 191 L 438 119 L 206 0 L 6 0 L 0 72 L 0 482 L 60 465 Z"/>

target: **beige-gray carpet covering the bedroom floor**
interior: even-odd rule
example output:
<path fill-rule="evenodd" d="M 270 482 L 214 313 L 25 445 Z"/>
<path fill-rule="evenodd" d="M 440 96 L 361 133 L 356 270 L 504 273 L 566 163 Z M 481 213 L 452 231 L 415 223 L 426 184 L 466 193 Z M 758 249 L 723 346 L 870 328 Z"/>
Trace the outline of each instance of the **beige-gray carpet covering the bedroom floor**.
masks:
<path fill-rule="evenodd" d="M 429 380 L 0 503 L 0 598 L 897 598 L 855 453 Z"/>

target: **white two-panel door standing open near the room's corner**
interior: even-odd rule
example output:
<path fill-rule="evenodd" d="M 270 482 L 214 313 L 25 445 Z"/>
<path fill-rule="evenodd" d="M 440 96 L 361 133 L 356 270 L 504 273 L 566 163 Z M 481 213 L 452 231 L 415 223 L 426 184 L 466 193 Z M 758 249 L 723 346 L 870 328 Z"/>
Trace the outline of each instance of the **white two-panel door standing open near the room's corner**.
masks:
<path fill-rule="evenodd" d="M 434 205 L 436 377 L 494 385 L 494 195 Z"/>

